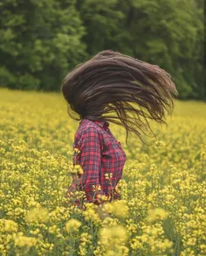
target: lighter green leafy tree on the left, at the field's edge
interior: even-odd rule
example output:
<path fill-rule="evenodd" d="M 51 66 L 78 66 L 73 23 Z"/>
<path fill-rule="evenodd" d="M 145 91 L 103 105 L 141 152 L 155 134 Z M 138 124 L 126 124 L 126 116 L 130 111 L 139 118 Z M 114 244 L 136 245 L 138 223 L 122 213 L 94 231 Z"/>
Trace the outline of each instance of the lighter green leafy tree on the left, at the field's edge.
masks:
<path fill-rule="evenodd" d="M 85 29 L 75 1 L 5 0 L 0 12 L 3 86 L 57 89 L 67 71 L 85 58 Z"/>

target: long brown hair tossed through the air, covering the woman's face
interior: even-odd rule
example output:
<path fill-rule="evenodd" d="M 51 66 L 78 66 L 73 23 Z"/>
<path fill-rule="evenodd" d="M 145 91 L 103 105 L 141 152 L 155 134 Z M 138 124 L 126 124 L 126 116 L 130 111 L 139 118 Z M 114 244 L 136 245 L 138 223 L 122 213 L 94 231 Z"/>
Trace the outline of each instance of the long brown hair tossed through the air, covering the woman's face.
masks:
<path fill-rule="evenodd" d="M 72 118 L 106 119 L 140 139 L 145 129 L 152 132 L 147 118 L 167 124 L 166 111 L 174 108 L 171 93 L 178 96 L 164 69 L 112 50 L 72 69 L 61 89 Z"/>

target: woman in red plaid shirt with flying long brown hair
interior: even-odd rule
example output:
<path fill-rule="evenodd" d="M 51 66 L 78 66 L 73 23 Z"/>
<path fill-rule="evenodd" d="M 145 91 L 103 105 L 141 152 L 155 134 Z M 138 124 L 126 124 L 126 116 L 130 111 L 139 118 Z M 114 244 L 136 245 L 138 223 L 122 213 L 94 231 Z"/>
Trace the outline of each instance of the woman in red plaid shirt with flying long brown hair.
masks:
<path fill-rule="evenodd" d="M 171 76 L 156 65 L 130 56 L 102 51 L 78 65 L 62 84 L 68 113 L 81 120 L 74 137 L 73 163 L 83 172 L 73 176 L 69 191 L 85 191 L 85 202 L 100 204 L 120 199 L 117 184 L 126 155 L 109 123 L 123 125 L 141 139 L 148 119 L 166 124 L 165 110 L 178 95 Z M 145 133 L 145 132 L 144 132 Z"/>

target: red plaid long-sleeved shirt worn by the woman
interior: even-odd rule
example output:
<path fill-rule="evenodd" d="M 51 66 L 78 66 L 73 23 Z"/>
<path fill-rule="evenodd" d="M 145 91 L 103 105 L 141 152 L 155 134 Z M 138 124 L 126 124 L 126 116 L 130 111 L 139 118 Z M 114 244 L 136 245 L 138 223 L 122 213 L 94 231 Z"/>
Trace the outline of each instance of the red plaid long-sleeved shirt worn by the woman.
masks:
<path fill-rule="evenodd" d="M 83 119 L 74 136 L 73 149 L 79 149 L 79 153 L 74 153 L 73 164 L 82 167 L 83 174 L 72 175 L 69 192 L 85 191 L 85 202 L 99 204 L 103 197 L 120 199 L 115 188 L 122 177 L 126 154 L 108 126 L 106 120 Z"/>

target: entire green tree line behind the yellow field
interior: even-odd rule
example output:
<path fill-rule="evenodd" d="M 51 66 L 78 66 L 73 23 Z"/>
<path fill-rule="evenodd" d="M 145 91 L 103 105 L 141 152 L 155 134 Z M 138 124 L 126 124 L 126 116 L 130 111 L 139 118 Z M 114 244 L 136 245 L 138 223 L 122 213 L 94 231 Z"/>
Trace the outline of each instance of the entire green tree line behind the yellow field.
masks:
<path fill-rule="evenodd" d="M 204 0 L 2 0 L 0 86 L 59 90 L 103 49 L 164 68 L 182 99 L 206 100 Z"/>

